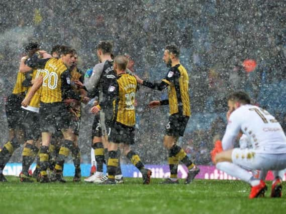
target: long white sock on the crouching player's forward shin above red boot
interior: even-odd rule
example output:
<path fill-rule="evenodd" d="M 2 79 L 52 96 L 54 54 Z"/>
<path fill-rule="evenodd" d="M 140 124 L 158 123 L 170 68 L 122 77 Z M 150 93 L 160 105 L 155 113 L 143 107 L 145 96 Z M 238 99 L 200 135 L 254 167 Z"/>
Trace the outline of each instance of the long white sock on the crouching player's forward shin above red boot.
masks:
<path fill-rule="evenodd" d="M 241 180 L 248 182 L 250 185 L 256 183 L 256 181 L 252 179 L 252 175 L 247 170 L 239 167 L 238 165 L 225 161 L 217 163 L 216 167 L 217 169 L 222 170 L 231 176 L 237 177 Z M 250 179 L 252 179 L 252 181 Z M 259 179 L 256 180 L 259 181 Z"/>

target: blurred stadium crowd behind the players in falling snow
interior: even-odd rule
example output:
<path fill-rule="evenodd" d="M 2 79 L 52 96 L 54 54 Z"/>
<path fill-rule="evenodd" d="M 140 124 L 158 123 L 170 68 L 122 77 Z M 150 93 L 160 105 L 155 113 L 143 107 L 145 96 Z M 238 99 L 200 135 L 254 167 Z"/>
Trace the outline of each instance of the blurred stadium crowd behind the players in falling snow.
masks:
<path fill-rule="evenodd" d="M 274 114 L 286 130 L 286 3 L 284 1 L 135 0 L 10 1 L 0 14 L 0 128 L 7 139 L 4 103 L 12 92 L 23 46 L 34 39 L 50 51 L 56 44 L 78 51 L 79 68 L 97 62 L 95 45 L 112 40 L 115 55 L 127 53 L 139 76 L 160 80 L 167 69 L 163 48 L 180 47 L 189 72 L 193 115 L 179 143 L 197 164 L 210 164 L 214 138 L 225 130 L 226 95 L 237 89 Z M 256 62 L 253 69 L 245 60 Z M 166 93 L 141 87 L 137 96 L 137 150 L 143 162 L 165 163 L 162 146 L 167 108 L 150 110 L 149 101 Z M 89 161 L 92 116 L 83 106 L 79 135 L 82 161 Z M 219 135 L 218 135 L 219 134 Z M 140 149 L 138 149 L 140 148 Z M 149 152 L 149 151 L 157 152 Z M 11 161 L 20 161 L 20 152 Z"/>

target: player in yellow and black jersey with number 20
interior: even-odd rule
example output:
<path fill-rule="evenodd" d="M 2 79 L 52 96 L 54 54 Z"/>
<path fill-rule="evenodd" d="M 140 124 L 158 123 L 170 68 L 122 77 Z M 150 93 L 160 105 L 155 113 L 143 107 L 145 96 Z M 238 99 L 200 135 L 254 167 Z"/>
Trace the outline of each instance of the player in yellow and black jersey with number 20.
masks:
<path fill-rule="evenodd" d="M 40 147 L 41 182 L 49 182 L 47 167 L 49 160 L 49 144 L 51 135 L 60 129 L 64 136 L 64 143 L 59 154 L 68 156 L 74 140 L 73 129 L 70 127 L 70 116 L 65 99 L 80 100 L 80 94 L 74 92 L 70 85 L 71 75 L 69 68 L 74 62 L 75 51 L 69 47 L 62 46 L 60 59 L 39 59 L 37 53 L 26 61 L 31 68 L 43 69 L 42 80 L 34 83 L 31 95 L 42 85 L 40 126 L 42 131 L 42 146 Z M 30 96 L 27 95 L 27 100 Z M 25 99 L 26 99 L 25 98 Z M 24 100 L 22 104 L 27 104 Z"/>

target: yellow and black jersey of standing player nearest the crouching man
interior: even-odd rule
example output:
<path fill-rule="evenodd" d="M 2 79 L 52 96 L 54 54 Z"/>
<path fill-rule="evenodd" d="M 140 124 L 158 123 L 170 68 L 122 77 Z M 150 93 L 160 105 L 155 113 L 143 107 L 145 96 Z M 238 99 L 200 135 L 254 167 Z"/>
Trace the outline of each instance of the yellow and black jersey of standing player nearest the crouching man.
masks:
<path fill-rule="evenodd" d="M 188 74 L 181 64 L 171 67 L 161 83 L 143 81 L 143 85 L 156 90 L 168 87 L 168 100 L 161 101 L 162 105 L 169 105 L 169 113 L 179 113 L 190 116 L 190 102 L 188 94 Z"/>

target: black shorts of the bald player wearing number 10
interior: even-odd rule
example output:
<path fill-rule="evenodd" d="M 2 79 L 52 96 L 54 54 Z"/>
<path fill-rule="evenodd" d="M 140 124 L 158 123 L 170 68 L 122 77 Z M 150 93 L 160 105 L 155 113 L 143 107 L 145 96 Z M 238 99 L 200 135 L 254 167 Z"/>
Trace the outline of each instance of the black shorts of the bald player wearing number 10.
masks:
<path fill-rule="evenodd" d="M 133 145 L 135 143 L 135 127 L 114 122 L 111 125 L 109 142 Z"/>

